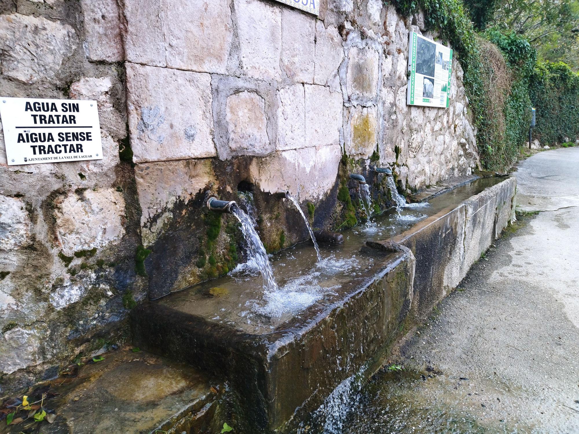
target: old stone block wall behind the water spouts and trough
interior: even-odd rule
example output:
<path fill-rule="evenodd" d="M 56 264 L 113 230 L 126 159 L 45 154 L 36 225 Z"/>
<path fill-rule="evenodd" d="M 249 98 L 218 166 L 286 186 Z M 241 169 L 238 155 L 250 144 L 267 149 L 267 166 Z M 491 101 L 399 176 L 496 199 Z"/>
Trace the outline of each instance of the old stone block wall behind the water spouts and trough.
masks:
<path fill-rule="evenodd" d="M 449 109 L 406 106 L 424 19 L 378 0 L 324 1 L 318 18 L 266 0 L 0 8 L 0 96 L 97 100 L 104 150 L 8 166 L 0 135 L 0 395 L 123 339 L 135 300 L 243 259 L 210 194 L 253 190 L 275 251 L 307 238 L 280 188 L 335 229 L 349 171 L 394 167 L 404 191 L 478 164 L 459 62 Z"/>

